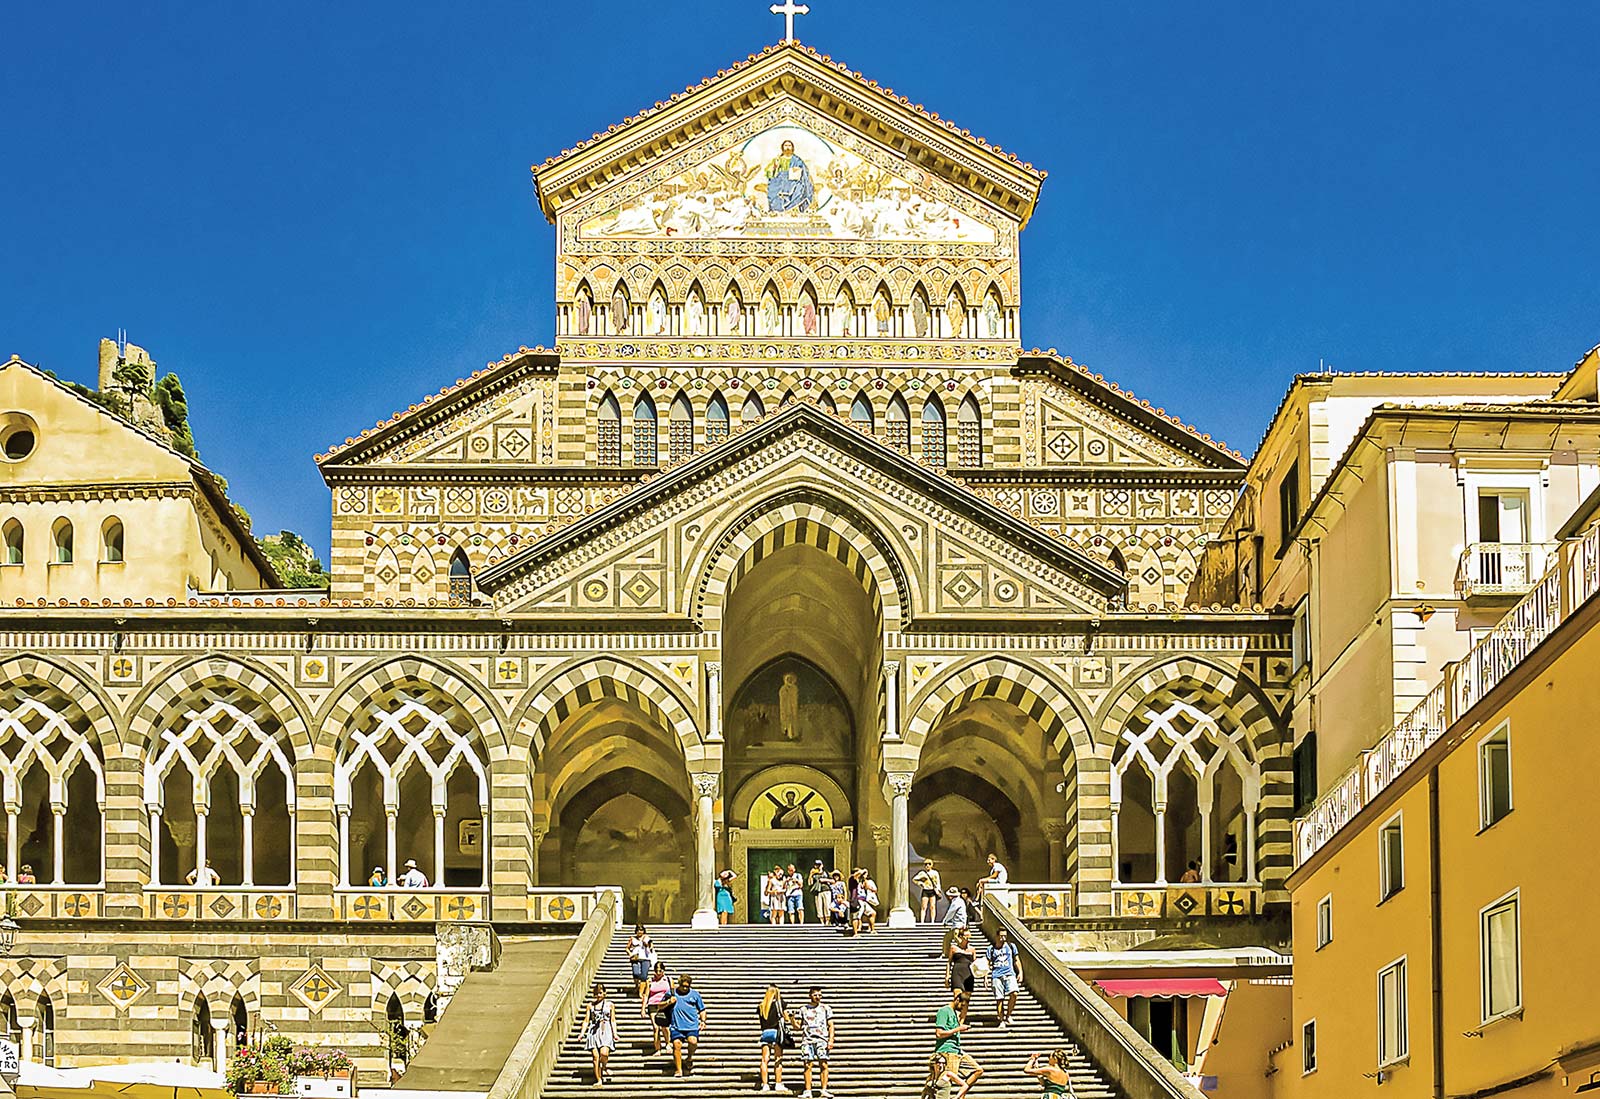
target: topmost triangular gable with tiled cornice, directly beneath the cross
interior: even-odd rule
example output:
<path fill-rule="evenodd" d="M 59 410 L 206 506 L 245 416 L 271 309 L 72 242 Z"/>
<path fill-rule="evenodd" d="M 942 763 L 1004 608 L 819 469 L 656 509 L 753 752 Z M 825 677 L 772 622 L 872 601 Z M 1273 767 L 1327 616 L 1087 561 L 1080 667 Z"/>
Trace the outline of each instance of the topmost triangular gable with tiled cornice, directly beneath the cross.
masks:
<path fill-rule="evenodd" d="M 774 106 L 784 117 L 770 117 Z M 822 222 L 832 222 L 834 234 L 845 230 L 845 222 L 851 219 L 846 206 L 858 218 L 870 214 L 878 206 L 872 198 L 883 194 L 883 189 L 933 200 L 944 197 L 944 187 L 952 187 L 981 200 L 998 216 L 1026 226 L 1043 182 L 1043 173 L 1032 165 L 958 130 L 922 104 L 896 96 L 806 46 L 786 43 L 718 72 L 667 102 L 611 126 L 605 134 L 595 134 L 576 149 L 536 165 L 533 171 L 541 208 L 552 221 L 558 214 L 565 218 L 574 203 L 587 205 L 594 195 L 614 192 L 621 181 L 646 170 L 653 174 L 653 182 L 661 184 L 661 203 L 670 200 L 670 192 L 699 189 L 702 194 L 720 194 L 709 190 L 715 186 L 726 186 L 734 197 L 747 194 L 752 198 L 749 206 L 723 203 L 723 226 L 754 221 L 757 210 L 763 214 L 784 213 L 766 206 L 768 178 L 762 174 L 781 152 L 782 136 L 773 130 L 784 122 L 806 134 L 795 134 L 795 155 L 806 162 L 803 174 L 810 176 L 816 197 L 813 210 L 824 214 Z M 734 130 L 731 136 L 725 133 L 730 126 Z M 715 155 L 704 155 L 707 139 L 715 134 L 726 139 L 718 142 Z M 696 149 L 701 150 L 699 155 L 683 157 L 686 150 Z M 893 170 L 890 162 L 874 155 L 875 150 L 893 154 Z M 739 155 L 734 158 L 733 154 Z M 819 163 L 811 163 L 813 160 Z M 834 166 L 843 174 L 834 176 Z M 706 173 L 704 186 L 701 171 Z M 790 181 L 786 171 L 776 190 L 798 190 L 789 189 L 790 182 L 802 184 L 803 179 L 797 174 Z M 778 205 L 784 206 L 786 202 Z M 611 203 L 613 210 L 618 205 Z M 942 205 L 949 203 L 928 211 L 930 221 L 941 221 Z M 616 214 L 597 210 L 584 227 L 590 232 L 606 229 L 616 235 L 626 235 L 629 226 L 635 230 L 666 232 L 669 226 L 662 224 L 659 214 L 659 208 L 635 208 L 635 216 L 616 229 Z M 597 221 L 608 216 L 610 221 Z M 680 219 L 680 224 L 683 221 L 693 218 Z M 717 211 L 707 210 L 704 224 L 718 224 Z M 941 224 L 939 232 L 962 230 L 952 219 Z M 774 222 L 768 230 L 806 234 L 818 229 L 800 222 Z M 848 232 L 859 232 L 859 224 Z"/>

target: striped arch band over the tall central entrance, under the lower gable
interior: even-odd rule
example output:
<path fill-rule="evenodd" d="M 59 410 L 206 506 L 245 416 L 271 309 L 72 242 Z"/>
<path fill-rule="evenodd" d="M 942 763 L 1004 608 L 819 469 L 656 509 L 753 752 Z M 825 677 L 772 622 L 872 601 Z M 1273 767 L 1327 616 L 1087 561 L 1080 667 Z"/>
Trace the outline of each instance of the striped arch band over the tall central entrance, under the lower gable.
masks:
<path fill-rule="evenodd" d="M 813 490 L 784 493 L 744 512 L 693 569 L 693 617 L 722 629 L 722 611 L 744 574 L 786 546 L 811 546 L 848 568 L 880 624 L 902 622 L 910 585 L 899 558 L 856 509 Z"/>

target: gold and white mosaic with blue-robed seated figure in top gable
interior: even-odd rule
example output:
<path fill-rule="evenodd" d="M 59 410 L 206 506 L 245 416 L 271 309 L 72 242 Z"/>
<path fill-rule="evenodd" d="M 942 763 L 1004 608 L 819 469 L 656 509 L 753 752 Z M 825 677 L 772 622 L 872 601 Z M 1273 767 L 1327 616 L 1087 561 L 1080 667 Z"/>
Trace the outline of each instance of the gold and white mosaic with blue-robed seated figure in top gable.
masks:
<path fill-rule="evenodd" d="M 586 238 L 810 237 L 990 245 L 995 230 L 795 125 L 773 126 L 614 211 Z"/>

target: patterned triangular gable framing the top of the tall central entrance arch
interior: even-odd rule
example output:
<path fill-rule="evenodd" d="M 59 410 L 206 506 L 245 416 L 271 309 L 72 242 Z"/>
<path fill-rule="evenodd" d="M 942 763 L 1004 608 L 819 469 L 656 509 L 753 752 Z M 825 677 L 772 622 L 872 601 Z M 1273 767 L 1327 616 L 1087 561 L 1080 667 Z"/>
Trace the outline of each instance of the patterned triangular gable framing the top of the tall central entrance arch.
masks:
<path fill-rule="evenodd" d="M 907 617 L 1098 614 L 1123 577 L 965 485 L 797 403 L 477 577 L 502 613 L 698 619 L 730 533 L 816 501 L 870 531 Z"/>

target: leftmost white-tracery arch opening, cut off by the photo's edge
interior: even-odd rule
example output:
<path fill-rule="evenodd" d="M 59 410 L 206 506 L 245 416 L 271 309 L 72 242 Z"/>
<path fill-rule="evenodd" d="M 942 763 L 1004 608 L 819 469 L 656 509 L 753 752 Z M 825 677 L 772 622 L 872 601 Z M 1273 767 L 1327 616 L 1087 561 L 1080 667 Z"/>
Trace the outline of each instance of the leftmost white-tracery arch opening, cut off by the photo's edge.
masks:
<path fill-rule="evenodd" d="M 26 867 L 48 885 L 101 881 L 106 766 L 93 726 L 59 688 L 0 688 L 0 800 L 11 875 Z"/>

